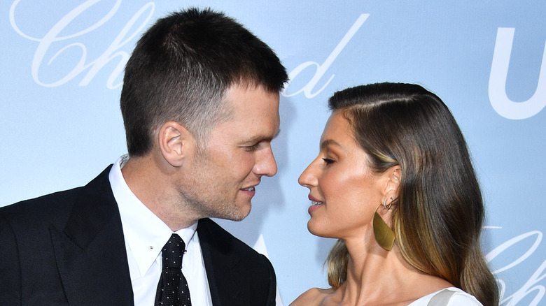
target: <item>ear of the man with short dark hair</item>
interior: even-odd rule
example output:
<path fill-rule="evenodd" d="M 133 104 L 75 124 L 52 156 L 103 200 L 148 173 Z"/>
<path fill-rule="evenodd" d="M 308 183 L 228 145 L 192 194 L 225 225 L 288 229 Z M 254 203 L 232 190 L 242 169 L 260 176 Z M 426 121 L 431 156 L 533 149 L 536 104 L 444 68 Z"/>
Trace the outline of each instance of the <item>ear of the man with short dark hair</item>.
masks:
<path fill-rule="evenodd" d="M 180 167 L 184 159 L 193 154 L 195 140 L 185 126 L 169 121 L 159 129 L 158 146 L 165 161 L 174 167 Z"/>

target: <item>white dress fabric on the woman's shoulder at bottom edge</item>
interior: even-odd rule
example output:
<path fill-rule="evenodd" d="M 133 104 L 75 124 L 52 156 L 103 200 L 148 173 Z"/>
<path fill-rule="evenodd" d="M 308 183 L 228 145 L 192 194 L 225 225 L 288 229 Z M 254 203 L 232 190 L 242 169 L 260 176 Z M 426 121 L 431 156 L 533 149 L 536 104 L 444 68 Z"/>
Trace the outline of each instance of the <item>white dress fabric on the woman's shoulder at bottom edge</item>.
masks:
<path fill-rule="evenodd" d="M 432 300 L 434 298 L 434 300 Z M 432 301 L 431 301 L 432 300 Z M 449 287 L 430 293 L 407 306 L 483 306 L 474 296 L 458 289 Z"/>

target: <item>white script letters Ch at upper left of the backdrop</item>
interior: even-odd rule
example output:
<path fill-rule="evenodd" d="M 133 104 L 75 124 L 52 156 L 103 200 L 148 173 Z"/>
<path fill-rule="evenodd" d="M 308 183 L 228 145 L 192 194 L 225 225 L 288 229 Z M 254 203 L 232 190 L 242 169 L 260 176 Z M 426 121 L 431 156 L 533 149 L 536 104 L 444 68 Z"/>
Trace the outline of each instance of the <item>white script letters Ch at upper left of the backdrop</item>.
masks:
<path fill-rule="evenodd" d="M 86 86 L 88 85 L 91 80 L 94 78 L 95 75 L 111 60 L 115 59 L 116 57 L 119 57 L 119 62 L 116 68 L 112 71 L 111 75 L 109 76 L 106 87 L 110 89 L 115 89 L 117 87 L 121 86 L 121 83 L 113 84 L 113 82 L 118 79 L 118 76 L 120 73 L 123 72 L 123 68 L 125 67 L 125 64 L 127 63 L 127 60 L 129 59 L 129 54 L 125 51 L 120 51 L 119 49 L 123 47 L 128 41 L 130 41 L 135 36 L 141 34 L 141 31 L 146 27 L 149 20 L 152 17 L 153 10 L 154 10 L 154 3 L 148 2 L 146 5 L 144 5 L 140 10 L 137 11 L 137 13 L 131 18 L 127 24 L 125 24 L 125 27 L 121 29 L 120 34 L 114 38 L 112 43 L 109 45 L 106 50 L 104 50 L 104 53 L 101 54 L 97 59 L 94 59 L 94 61 L 87 61 L 87 48 L 85 47 L 85 44 L 82 42 L 76 42 L 76 43 L 69 43 L 61 47 L 57 47 L 57 52 L 52 55 L 52 57 L 47 62 L 47 66 L 51 66 L 53 61 L 57 59 L 57 61 L 62 61 L 62 53 L 66 50 L 69 50 L 70 48 L 79 48 L 81 51 L 81 56 L 76 63 L 76 65 L 72 68 L 71 71 L 69 71 L 68 74 L 64 75 L 59 80 L 56 80 L 55 82 L 42 82 L 40 80 L 40 77 L 38 75 L 38 71 L 40 68 L 43 68 L 45 66 L 43 64 L 45 54 L 52 48 L 53 44 L 56 42 L 61 41 L 67 41 L 72 38 L 78 38 L 80 36 L 84 36 L 87 33 L 90 33 L 91 31 L 94 31 L 95 29 L 101 27 L 103 24 L 108 22 L 118 11 L 118 8 L 121 5 L 122 0 L 116 1 L 114 3 L 113 8 L 109 10 L 108 13 L 104 17 L 102 17 L 100 20 L 92 24 L 90 27 L 87 27 L 87 29 L 83 29 L 81 31 L 78 31 L 74 34 L 66 35 L 66 36 L 59 36 L 61 31 L 66 29 L 66 27 L 71 24 L 78 16 L 80 16 L 85 10 L 89 9 L 94 4 L 99 3 L 101 0 L 89 0 L 81 3 L 79 6 L 71 10 L 69 13 L 64 15 L 49 31 L 42 37 L 33 37 L 30 35 L 27 35 L 23 33 L 20 30 L 20 27 L 18 27 L 17 22 L 15 20 L 15 8 L 18 6 L 21 0 L 16 0 L 13 2 L 10 8 L 10 24 L 11 27 L 22 37 L 27 38 L 31 41 L 37 41 L 38 42 L 38 48 L 36 48 L 36 52 L 34 53 L 34 58 L 32 59 L 32 78 L 38 85 L 42 85 L 44 87 L 57 87 L 59 85 L 63 85 L 66 82 L 69 82 L 73 78 L 76 78 L 77 75 L 80 75 L 80 73 L 83 73 L 87 69 L 87 74 L 83 77 L 83 80 L 80 81 L 80 86 Z M 148 15 L 146 16 L 145 20 L 139 24 L 138 27 L 136 27 L 132 33 L 129 31 L 133 29 L 134 24 L 139 20 L 139 17 L 141 15 L 144 15 L 144 13 L 148 12 Z"/>

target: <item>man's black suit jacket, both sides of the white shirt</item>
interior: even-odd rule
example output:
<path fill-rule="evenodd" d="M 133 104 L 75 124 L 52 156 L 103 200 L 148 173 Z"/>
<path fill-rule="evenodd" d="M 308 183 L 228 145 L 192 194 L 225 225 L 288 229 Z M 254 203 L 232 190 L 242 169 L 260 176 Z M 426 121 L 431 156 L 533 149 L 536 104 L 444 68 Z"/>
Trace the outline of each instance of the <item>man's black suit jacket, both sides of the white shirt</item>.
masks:
<path fill-rule="evenodd" d="M 110 168 L 85 187 L 0 208 L 0 305 L 133 305 Z M 210 219 L 197 233 L 214 305 L 275 305 L 265 256 Z"/>

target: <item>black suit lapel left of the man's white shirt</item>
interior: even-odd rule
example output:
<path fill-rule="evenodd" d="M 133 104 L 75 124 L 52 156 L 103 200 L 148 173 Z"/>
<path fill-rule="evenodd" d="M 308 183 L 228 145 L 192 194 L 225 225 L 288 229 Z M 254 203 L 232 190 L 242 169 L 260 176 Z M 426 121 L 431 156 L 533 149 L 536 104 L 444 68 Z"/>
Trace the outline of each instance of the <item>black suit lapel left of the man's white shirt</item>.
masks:
<path fill-rule="evenodd" d="M 50 226 L 57 268 L 71 305 L 133 305 L 110 168 L 82 189 L 64 229 Z"/>

